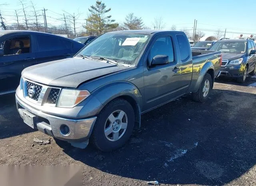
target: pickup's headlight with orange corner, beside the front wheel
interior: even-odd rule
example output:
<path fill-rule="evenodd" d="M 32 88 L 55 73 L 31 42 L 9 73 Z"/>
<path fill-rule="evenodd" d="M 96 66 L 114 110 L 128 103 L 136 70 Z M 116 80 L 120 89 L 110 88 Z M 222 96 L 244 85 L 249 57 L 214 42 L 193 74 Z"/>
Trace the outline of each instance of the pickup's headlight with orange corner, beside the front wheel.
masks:
<path fill-rule="evenodd" d="M 58 97 L 57 107 L 72 108 L 90 95 L 86 90 L 62 89 Z"/>

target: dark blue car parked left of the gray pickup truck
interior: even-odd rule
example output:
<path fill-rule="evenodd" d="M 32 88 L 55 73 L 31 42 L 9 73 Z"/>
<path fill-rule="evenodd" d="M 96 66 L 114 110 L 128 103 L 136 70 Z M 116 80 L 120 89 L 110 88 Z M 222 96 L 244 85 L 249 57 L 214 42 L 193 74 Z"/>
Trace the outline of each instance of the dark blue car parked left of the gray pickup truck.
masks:
<path fill-rule="evenodd" d="M 72 57 L 83 46 L 68 38 L 42 32 L 0 31 L 0 95 L 15 92 L 24 68 Z"/>

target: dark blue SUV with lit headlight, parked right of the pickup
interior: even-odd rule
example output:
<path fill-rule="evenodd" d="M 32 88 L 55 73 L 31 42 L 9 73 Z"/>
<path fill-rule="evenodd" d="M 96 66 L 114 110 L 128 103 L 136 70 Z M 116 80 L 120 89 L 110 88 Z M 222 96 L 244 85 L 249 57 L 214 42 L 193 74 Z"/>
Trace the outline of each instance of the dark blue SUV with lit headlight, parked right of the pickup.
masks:
<path fill-rule="evenodd" d="M 244 83 L 248 73 L 256 74 L 256 47 L 253 40 L 219 40 L 209 50 L 222 52 L 220 76 L 236 78 L 239 83 Z"/>

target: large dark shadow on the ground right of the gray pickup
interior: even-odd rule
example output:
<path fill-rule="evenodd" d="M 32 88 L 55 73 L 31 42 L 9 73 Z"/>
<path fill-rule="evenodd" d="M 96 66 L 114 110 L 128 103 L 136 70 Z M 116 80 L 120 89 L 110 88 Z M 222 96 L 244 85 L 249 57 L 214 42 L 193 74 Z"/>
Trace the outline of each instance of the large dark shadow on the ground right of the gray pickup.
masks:
<path fill-rule="evenodd" d="M 223 185 L 256 164 L 255 105 L 255 94 L 214 89 L 207 103 L 186 96 L 146 113 L 142 132 L 116 151 L 56 143 L 75 160 L 113 175 Z"/>

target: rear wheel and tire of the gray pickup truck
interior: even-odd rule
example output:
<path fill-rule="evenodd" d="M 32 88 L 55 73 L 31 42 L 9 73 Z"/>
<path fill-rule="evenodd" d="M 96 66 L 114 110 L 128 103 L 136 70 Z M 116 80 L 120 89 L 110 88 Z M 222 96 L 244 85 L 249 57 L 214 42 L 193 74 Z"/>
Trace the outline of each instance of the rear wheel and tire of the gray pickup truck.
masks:
<path fill-rule="evenodd" d="M 208 90 L 208 92 L 206 94 L 204 93 L 204 92 L 206 92 L 206 91 L 204 91 L 205 90 L 204 88 L 206 88 L 205 83 L 208 85 L 208 86 L 206 86 L 207 90 Z M 206 73 L 204 75 L 204 79 L 203 79 L 198 91 L 192 93 L 192 99 L 194 101 L 204 103 L 208 99 L 211 91 L 212 91 L 212 76 L 209 73 Z"/>

